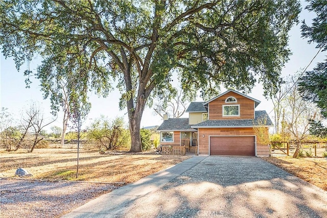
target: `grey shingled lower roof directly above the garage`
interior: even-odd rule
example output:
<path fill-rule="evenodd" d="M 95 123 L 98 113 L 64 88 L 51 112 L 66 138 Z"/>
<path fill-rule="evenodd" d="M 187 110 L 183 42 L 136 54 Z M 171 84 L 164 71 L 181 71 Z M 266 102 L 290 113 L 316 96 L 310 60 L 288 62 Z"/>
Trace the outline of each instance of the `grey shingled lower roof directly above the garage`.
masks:
<path fill-rule="evenodd" d="M 266 124 L 262 120 L 266 119 Z M 192 128 L 241 128 L 241 127 L 273 127 L 272 121 L 264 110 L 255 111 L 254 119 L 222 119 L 206 120 L 192 125 Z"/>

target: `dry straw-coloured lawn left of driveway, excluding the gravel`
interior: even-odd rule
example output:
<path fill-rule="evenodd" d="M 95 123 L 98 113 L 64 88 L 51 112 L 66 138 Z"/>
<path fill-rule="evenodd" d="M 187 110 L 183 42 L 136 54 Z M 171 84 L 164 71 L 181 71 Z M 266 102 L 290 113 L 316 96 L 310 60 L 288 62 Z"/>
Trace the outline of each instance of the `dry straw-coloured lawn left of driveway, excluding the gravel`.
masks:
<path fill-rule="evenodd" d="M 76 179 L 76 149 L 35 149 L 33 153 L 0 152 L 0 174 L 13 177 L 18 167 L 27 169 L 35 179 L 79 180 L 96 182 L 135 182 L 179 163 L 189 156 L 143 154 L 100 155 L 97 151 L 81 151 L 79 177 Z"/>

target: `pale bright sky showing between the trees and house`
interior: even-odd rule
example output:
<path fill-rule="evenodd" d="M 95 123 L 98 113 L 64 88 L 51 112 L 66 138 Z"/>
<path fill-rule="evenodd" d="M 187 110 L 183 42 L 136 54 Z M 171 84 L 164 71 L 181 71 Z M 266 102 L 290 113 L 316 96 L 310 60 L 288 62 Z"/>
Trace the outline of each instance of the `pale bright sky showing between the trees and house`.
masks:
<path fill-rule="evenodd" d="M 302 21 L 305 19 L 306 23 L 311 25 L 315 13 L 309 13 L 308 10 L 304 9 L 307 4 L 306 2 L 301 1 L 301 4 L 303 10 L 299 15 L 299 20 Z M 308 39 L 301 38 L 300 25 L 301 23 L 298 23 L 298 25 L 294 26 L 289 33 L 289 48 L 293 54 L 290 56 L 290 60 L 285 64 L 285 67 L 282 70 L 283 77 L 293 75 L 296 71 L 306 68 L 318 52 L 318 49 L 315 48 L 315 44 L 308 44 Z M 307 70 L 313 69 L 318 62 L 322 62 L 326 59 L 325 55 L 326 53 L 320 52 L 308 66 Z M 33 78 L 33 83 L 30 85 L 30 88 L 26 88 L 25 84 L 26 77 L 24 76 L 24 70 L 29 68 L 35 70 L 40 60 L 40 58 L 34 59 L 30 62 L 30 65 L 24 64 L 20 67 L 20 71 L 17 71 L 12 58 L 5 59 L 2 54 L 0 56 L 0 107 L 8 108 L 8 112 L 10 112 L 13 121 L 16 123 L 19 123 L 22 111 L 27 109 L 31 102 L 36 102 L 40 106 L 41 110 L 43 110 L 44 118 L 48 120 L 52 119 L 52 115 L 50 114 L 50 100 L 43 99 L 39 82 Z M 222 89 L 221 91 L 223 92 L 225 90 Z M 272 103 L 265 99 L 263 93 L 263 87 L 260 84 L 257 84 L 252 89 L 252 92 L 247 95 L 261 101 L 261 104 L 256 107 L 256 110 L 266 110 L 272 119 Z M 114 119 L 117 116 L 124 116 L 125 122 L 128 124 L 127 110 L 119 110 L 119 98 L 120 93 L 118 90 L 112 91 L 106 99 L 99 98 L 95 93 L 90 93 L 89 100 L 92 108 L 83 125 L 87 127 L 92 120 L 99 118 L 101 115 L 105 115 L 109 119 Z M 202 99 L 198 98 L 197 101 L 202 101 Z M 59 112 L 57 120 L 52 125 L 45 128 L 45 130 L 50 132 L 51 126 L 62 127 L 62 116 L 63 112 Z M 183 117 L 188 117 L 188 114 L 185 113 Z M 156 126 L 161 123 L 162 118 L 159 115 L 155 115 L 152 108 L 146 107 L 141 121 L 141 128 Z"/>

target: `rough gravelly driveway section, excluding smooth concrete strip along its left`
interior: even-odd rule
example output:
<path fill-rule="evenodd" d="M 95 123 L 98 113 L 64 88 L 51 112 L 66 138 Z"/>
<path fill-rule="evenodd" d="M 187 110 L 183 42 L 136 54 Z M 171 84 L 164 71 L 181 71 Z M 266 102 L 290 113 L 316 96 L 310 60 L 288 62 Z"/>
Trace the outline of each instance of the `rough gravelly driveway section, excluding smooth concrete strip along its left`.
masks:
<path fill-rule="evenodd" d="M 261 158 L 210 156 L 124 217 L 327 217 L 327 192 Z"/>

